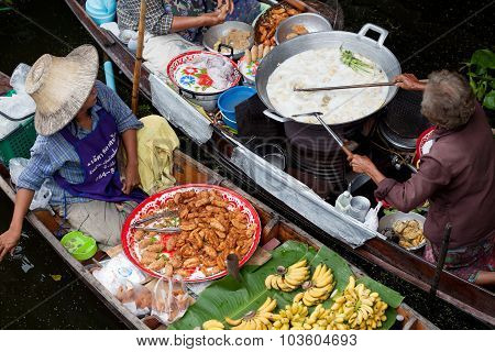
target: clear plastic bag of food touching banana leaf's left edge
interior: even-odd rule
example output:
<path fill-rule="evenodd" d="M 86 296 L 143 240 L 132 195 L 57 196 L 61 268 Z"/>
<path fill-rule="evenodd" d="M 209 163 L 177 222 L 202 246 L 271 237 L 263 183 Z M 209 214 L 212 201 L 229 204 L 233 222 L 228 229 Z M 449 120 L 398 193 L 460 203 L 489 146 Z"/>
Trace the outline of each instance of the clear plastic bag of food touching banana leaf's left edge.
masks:
<path fill-rule="evenodd" d="M 191 302 L 180 275 L 174 275 L 172 279 L 162 277 L 153 288 L 151 314 L 162 323 L 170 324 L 184 316 Z"/>

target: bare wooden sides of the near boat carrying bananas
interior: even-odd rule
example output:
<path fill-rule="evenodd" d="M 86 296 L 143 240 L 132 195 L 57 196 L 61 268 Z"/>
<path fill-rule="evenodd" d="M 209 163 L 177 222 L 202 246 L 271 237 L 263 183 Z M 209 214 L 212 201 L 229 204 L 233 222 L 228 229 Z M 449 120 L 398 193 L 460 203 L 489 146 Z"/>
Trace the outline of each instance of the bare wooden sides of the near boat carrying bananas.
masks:
<path fill-rule="evenodd" d="M 7 76 L 0 73 L 0 84 L 2 78 Z M 1 86 L 1 85 L 0 85 Z M 0 87 L 1 88 L 1 87 Z M 272 239 L 277 239 L 279 242 L 288 240 L 296 240 L 308 245 L 319 249 L 323 244 L 309 235 L 307 232 L 297 228 L 290 223 L 287 219 L 276 213 L 274 210 L 262 204 L 260 200 L 248 195 L 230 180 L 215 173 L 212 169 L 196 162 L 191 157 L 175 151 L 174 153 L 174 177 L 177 180 L 177 185 L 180 184 L 211 184 L 230 188 L 245 199 L 248 199 L 260 215 L 262 222 L 262 238 L 260 244 L 263 245 Z M 0 189 L 6 193 L 9 198 L 14 201 L 15 190 L 10 183 L 10 176 L 8 169 L 0 164 Z M 89 272 L 89 268 L 85 264 L 75 260 L 66 249 L 61 244 L 55 233 L 59 229 L 58 219 L 51 215 L 47 210 L 32 211 L 26 216 L 28 221 L 41 233 L 41 235 L 50 243 L 54 251 L 65 261 L 65 263 L 82 279 L 82 282 L 98 296 L 99 299 L 122 321 L 131 329 L 160 329 L 164 328 L 154 318 L 139 319 L 132 315 L 122 304 L 113 297 Z M 99 251 L 96 254 L 96 258 L 102 260 L 106 254 Z M 352 266 L 352 265 L 351 265 Z M 358 276 L 364 275 L 358 267 L 352 266 L 353 272 Z M 399 329 L 404 330 L 431 330 L 438 329 L 433 323 L 428 321 L 425 317 L 415 311 L 406 304 L 402 304 L 397 308 L 397 314 L 402 315 L 405 319 L 399 322 Z"/>

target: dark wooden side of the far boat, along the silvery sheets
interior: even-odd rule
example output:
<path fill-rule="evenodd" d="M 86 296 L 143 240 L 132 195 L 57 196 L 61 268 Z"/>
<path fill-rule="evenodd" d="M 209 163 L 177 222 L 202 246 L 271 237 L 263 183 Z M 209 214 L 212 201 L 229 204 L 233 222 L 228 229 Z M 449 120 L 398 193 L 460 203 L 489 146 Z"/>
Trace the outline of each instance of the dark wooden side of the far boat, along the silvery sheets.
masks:
<path fill-rule="evenodd" d="M 65 1 L 108 57 L 110 57 L 129 79 L 132 79 L 135 56 L 125 45 L 112 36 L 111 33 L 101 30 L 91 21 L 84 10 L 85 0 Z M 150 72 L 143 67 L 140 89 L 141 94 L 151 101 L 152 95 L 148 77 Z M 184 107 L 190 108 L 188 102 L 185 99 L 183 100 Z M 202 147 L 212 151 L 215 157 L 226 169 L 228 169 L 230 175 L 237 178 L 238 184 L 242 184 L 250 189 L 256 189 L 257 197 L 263 199 L 263 201 L 270 204 L 276 210 L 284 212 L 287 218 L 300 224 L 304 229 L 311 231 L 311 233 L 316 233 L 319 239 L 326 239 L 326 242 L 334 241 L 336 245 L 341 246 L 345 251 L 350 250 L 345 243 L 339 240 L 329 240 L 329 237 L 332 235 L 331 233 L 322 231 L 315 223 L 308 221 L 293 208 L 285 205 L 282 200 L 274 198 L 253 182 L 246 180 L 243 172 L 230 161 L 230 153 L 232 152 L 234 144 L 230 139 L 226 138 L 226 134 L 222 133 L 218 127 L 213 125 L 212 138 Z M 378 265 L 383 270 L 393 273 L 425 292 L 430 292 L 432 286 L 437 286 L 433 284 L 437 272 L 435 265 L 383 238 L 375 237 L 358 249 L 351 251 L 360 257 Z M 473 285 L 443 270 L 439 273 L 439 277 L 438 286 L 433 287 L 438 297 L 476 319 L 495 326 L 495 295 L 493 292 Z"/>

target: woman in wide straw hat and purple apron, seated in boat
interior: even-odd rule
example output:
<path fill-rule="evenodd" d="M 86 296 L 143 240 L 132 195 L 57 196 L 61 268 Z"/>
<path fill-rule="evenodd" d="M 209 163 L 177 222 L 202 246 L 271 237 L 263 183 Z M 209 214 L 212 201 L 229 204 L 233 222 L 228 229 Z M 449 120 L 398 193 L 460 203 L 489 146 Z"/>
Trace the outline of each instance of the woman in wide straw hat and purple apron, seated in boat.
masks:
<path fill-rule="evenodd" d="M 51 205 L 100 248 L 118 244 L 130 211 L 146 195 L 139 188 L 136 130 L 143 127 L 122 100 L 96 80 L 98 53 L 82 45 L 66 57 L 48 54 L 30 70 L 25 90 L 36 102 L 38 136 L 19 177 L 12 222 L 0 235 L 0 261 L 19 242 L 24 216 L 45 179 Z M 117 153 L 127 165 L 121 182 Z"/>

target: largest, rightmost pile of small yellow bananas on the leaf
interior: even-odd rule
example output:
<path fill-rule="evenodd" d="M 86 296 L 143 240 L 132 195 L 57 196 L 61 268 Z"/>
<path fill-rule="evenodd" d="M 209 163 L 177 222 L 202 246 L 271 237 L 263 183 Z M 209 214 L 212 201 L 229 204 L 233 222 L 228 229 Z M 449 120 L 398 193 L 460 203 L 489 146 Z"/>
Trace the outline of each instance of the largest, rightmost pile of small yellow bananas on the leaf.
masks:
<path fill-rule="evenodd" d="M 387 307 L 377 293 L 372 293 L 363 284 L 356 286 L 351 275 L 345 290 L 336 298 L 330 310 L 336 314 L 336 327 L 337 323 L 346 323 L 351 329 L 376 329 L 386 320 Z"/>

